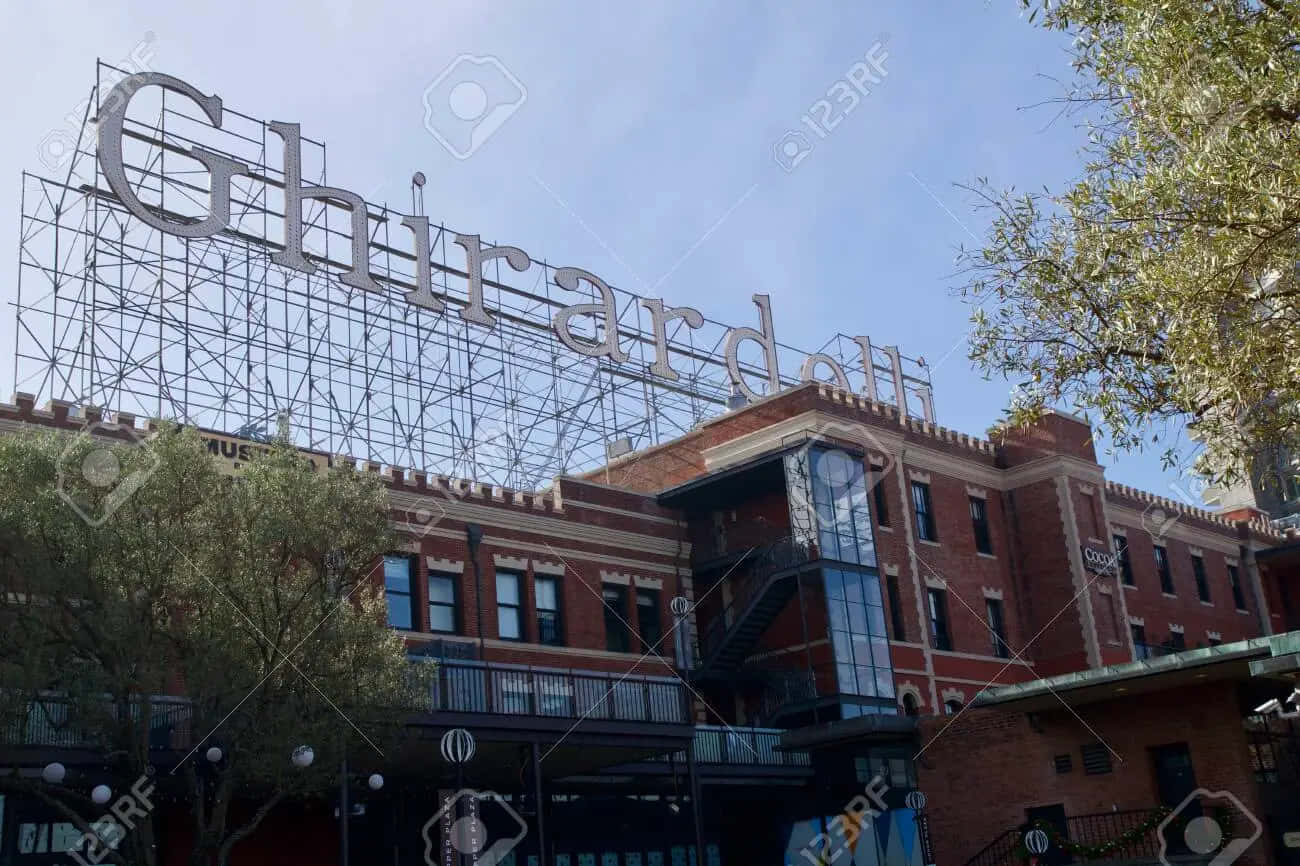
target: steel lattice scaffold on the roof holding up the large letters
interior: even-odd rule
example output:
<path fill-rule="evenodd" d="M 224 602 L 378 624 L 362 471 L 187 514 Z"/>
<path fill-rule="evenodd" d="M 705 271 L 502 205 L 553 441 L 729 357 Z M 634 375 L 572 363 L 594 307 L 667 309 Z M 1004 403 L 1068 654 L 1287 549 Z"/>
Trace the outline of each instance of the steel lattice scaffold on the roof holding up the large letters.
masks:
<path fill-rule="evenodd" d="M 90 105 L 124 73 L 100 64 Z M 404 300 L 415 287 L 412 234 L 402 213 L 369 205 L 369 268 L 382 294 L 339 282 L 350 264 L 350 213 L 307 200 L 303 247 L 315 273 L 273 264 L 283 238 L 282 140 L 269 124 L 225 109 L 213 129 L 177 94 L 146 88 L 130 105 L 124 155 L 136 195 L 179 217 L 205 215 L 208 177 L 192 146 L 250 166 L 231 187 L 229 228 L 188 239 L 146 225 L 109 191 L 87 117 L 62 178 L 23 174 L 16 390 L 38 398 L 176 419 L 257 438 L 283 425 L 302 446 L 376 463 L 536 489 L 599 466 L 607 446 L 680 436 L 723 411 L 731 380 L 725 325 L 668 325 L 677 381 L 654 376 L 655 338 L 637 295 L 615 290 L 623 364 L 572 352 L 551 328 L 563 307 L 601 300 L 555 285 L 555 268 L 524 272 L 500 259 L 484 274 L 493 329 L 465 322 L 464 251 L 432 228 L 434 291 L 446 312 Z M 90 109 L 87 109 L 88 112 Z M 325 146 L 303 138 L 303 178 L 326 185 Z M 422 205 L 412 196 L 412 205 Z M 755 311 L 748 319 L 757 319 Z M 585 333 L 595 339 L 597 320 Z M 753 322 L 751 324 L 757 324 Z M 744 343 L 755 390 L 760 350 Z M 862 350 L 837 334 L 820 348 L 852 382 Z M 807 356 L 777 347 L 783 386 Z M 889 358 L 874 348 L 879 398 L 897 403 Z M 919 413 L 928 377 L 904 358 L 905 402 Z M 926 394 L 927 397 L 922 397 Z"/>

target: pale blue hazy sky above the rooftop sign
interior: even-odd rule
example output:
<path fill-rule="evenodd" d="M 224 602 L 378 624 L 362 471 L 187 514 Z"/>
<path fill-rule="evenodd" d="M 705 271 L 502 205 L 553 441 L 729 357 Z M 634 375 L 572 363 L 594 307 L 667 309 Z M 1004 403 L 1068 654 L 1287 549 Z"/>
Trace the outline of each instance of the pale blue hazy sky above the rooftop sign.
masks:
<path fill-rule="evenodd" d="M 1082 134 L 1032 108 L 1069 77 L 1067 42 L 1014 0 L 0 8 L 0 225 L 14 243 L 20 172 L 42 170 L 95 59 L 148 38 L 155 70 L 324 139 L 334 185 L 406 209 L 422 170 L 433 221 L 732 325 L 757 324 L 750 295 L 767 293 L 779 339 L 802 348 L 837 330 L 897 343 L 933 365 L 939 421 L 970 433 L 1009 387 L 966 360 L 954 256 L 983 218 L 954 183 L 1060 189 L 1079 170 Z M 774 146 L 807 133 L 801 117 L 876 42 L 884 81 L 786 172 Z M 495 57 L 526 88 L 465 160 L 429 134 L 422 104 L 460 55 Z M 6 256 L 0 282 L 13 278 Z M 12 339 L 10 308 L 5 389 Z M 1101 459 L 1117 481 L 1175 494 L 1158 449 Z"/>

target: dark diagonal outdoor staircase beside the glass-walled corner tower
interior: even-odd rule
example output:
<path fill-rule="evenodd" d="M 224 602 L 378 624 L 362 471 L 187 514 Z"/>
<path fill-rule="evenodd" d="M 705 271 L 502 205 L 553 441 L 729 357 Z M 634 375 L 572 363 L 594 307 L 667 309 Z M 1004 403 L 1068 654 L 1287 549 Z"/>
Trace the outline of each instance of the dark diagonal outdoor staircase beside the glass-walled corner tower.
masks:
<path fill-rule="evenodd" d="M 750 573 L 737 581 L 731 603 L 701 635 L 699 679 L 727 676 L 740 668 L 758 638 L 794 596 L 797 577 L 815 562 L 810 545 L 783 538 L 757 554 Z"/>

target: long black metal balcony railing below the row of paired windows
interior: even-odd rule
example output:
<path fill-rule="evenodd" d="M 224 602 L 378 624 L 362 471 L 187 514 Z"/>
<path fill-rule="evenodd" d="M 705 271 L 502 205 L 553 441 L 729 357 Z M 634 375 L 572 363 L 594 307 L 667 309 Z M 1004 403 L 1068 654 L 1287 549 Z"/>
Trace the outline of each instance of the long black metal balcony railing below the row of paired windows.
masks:
<path fill-rule="evenodd" d="M 688 724 L 686 690 L 664 676 L 451 661 L 429 683 L 433 711 Z"/>

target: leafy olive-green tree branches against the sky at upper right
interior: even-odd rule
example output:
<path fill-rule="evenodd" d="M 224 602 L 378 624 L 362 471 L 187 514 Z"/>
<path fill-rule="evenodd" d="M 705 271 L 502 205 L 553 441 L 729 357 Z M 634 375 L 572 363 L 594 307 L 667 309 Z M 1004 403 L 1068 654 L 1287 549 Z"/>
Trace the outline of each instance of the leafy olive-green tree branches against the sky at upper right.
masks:
<path fill-rule="evenodd" d="M 1187 424 L 1238 480 L 1300 443 L 1300 4 L 1039 1 L 1075 36 L 1086 166 L 1058 195 L 972 187 L 971 358 L 1017 384 L 1011 423 L 1072 404 L 1119 449 Z"/>

